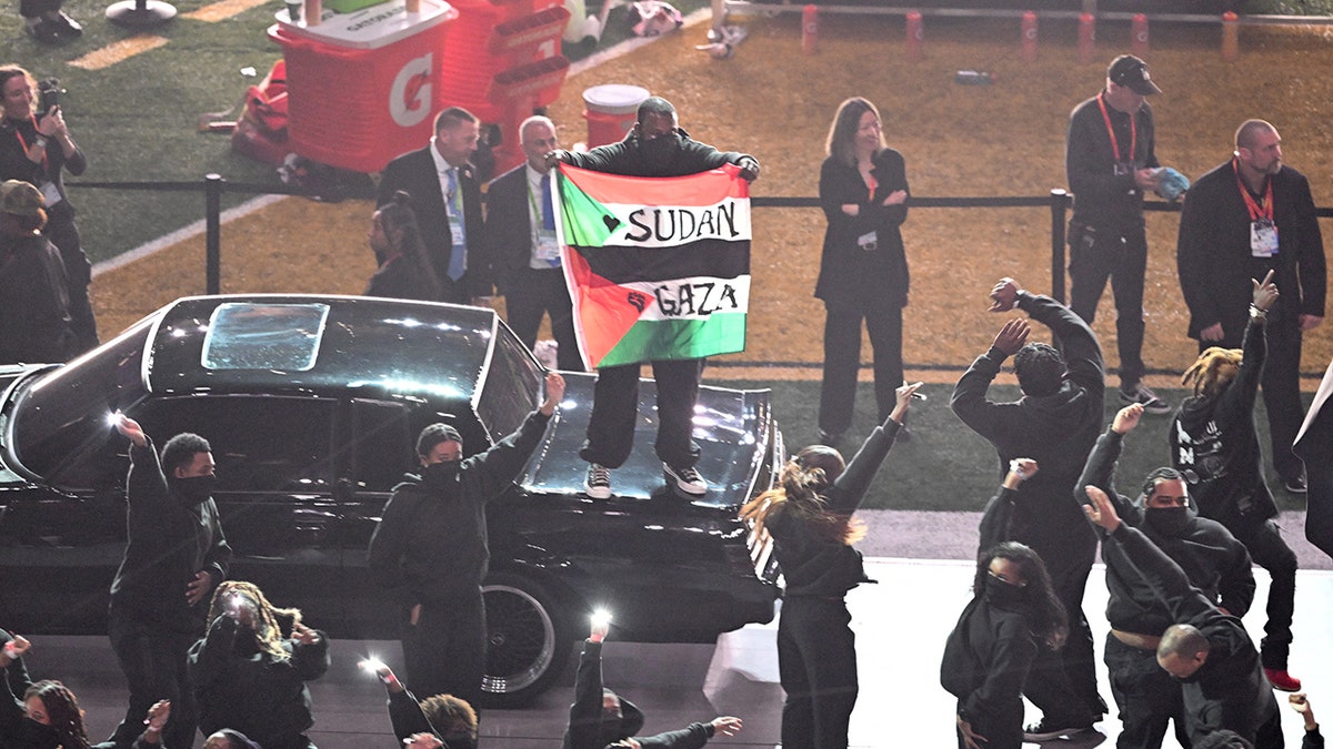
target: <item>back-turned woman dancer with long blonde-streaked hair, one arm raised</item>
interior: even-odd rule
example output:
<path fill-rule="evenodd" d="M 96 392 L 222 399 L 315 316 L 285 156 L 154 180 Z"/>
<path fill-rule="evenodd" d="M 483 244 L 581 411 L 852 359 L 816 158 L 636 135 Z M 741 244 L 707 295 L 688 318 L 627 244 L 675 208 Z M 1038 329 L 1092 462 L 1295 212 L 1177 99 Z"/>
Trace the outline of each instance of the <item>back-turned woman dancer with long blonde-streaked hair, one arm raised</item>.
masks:
<path fill-rule="evenodd" d="M 773 534 L 786 580 L 777 625 L 777 666 L 786 692 L 785 749 L 846 746 L 858 685 L 856 634 L 842 598 L 866 581 L 861 552 L 852 546 L 865 528 L 852 522 L 852 513 L 893 448 L 920 386 L 897 389 L 893 412 L 845 469 L 836 449 L 810 445 L 782 468 L 777 488 L 741 509 L 760 532 Z"/>

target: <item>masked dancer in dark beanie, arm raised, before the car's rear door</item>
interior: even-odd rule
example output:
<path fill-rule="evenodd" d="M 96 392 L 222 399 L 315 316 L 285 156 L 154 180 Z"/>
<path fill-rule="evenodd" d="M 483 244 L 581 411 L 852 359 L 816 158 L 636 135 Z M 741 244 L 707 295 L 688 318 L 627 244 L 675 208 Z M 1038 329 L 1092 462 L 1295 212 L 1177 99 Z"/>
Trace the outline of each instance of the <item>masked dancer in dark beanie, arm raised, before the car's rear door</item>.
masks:
<path fill-rule="evenodd" d="M 547 422 L 565 394 L 565 380 L 547 373 L 547 400 L 513 434 L 463 460 L 463 437 L 432 424 L 417 437 L 419 473 L 393 488 L 371 537 L 371 573 L 403 606 L 403 660 L 417 694 L 453 694 L 480 705 L 487 662 L 487 612 L 481 581 L 487 502 L 528 465 Z"/>

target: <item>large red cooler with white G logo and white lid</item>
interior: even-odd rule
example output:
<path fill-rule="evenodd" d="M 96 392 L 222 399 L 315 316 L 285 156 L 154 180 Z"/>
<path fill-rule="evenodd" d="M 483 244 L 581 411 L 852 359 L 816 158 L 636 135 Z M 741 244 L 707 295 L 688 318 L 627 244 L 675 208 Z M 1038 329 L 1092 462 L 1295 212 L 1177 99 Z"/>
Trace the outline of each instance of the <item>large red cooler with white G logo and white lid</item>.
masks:
<path fill-rule="evenodd" d="M 443 0 L 403 0 L 324 21 L 292 24 L 287 11 L 268 35 L 287 60 L 288 143 L 321 164 L 379 172 L 395 156 L 421 148 L 443 85 L 441 59 L 449 21 Z"/>

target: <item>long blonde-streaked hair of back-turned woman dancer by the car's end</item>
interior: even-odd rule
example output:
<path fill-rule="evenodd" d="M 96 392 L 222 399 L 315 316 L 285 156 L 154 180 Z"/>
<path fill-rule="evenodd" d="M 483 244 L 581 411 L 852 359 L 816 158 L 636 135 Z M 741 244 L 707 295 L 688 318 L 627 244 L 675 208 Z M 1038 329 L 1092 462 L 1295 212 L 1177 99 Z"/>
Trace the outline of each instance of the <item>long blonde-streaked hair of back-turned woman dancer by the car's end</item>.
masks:
<path fill-rule="evenodd" d="M 816 538 L 852 545 L 865 537 L 865 522 L 853 520 L 850 514 L 830 510 L 820 496 L 820 492 L 833 482 L 829 473 L 834 473 L 833 478 L 836 473 L 841 473 L 842 457 L 837 456 L 836 465 L 828 465 L 824 454 L 810 460 L 810 456 L 806 456 L 810 450 L 812 448 L 805 448 L 789 460 L 777 477 L 777 486 L 746 502 L 741 508 L 741 518 L 753 522 L 756 533 L 762 533 L 769 513 L 794 513 L 794 518 L 801 521 Z M 836 454 L 836 450 L 829 452 Z M 828 466 L 812 465 L 816 462 Z"/>

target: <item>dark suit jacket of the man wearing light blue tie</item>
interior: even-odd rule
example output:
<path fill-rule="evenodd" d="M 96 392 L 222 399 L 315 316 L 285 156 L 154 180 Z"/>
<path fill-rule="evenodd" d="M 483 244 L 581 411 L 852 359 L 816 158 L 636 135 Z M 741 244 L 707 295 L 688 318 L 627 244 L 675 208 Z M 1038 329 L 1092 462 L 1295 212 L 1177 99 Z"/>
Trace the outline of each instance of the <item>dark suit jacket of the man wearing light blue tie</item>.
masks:
<path fill-rule="evenodd" d="M 449 233 L 449 215 L 444 207 L 444 191 L 440 189 L 440 176 L 435 171 L 431 148 L 433 145 L 409 151 L 389 161 L 380 177 L 380 193 L 376 204 L 391 203 L 395 191 L 401 189 L 412 195 L 412 207 L 417 224 L 421 227 L 421 240 L 425 243 L 427 255 L 435 264 L 435 272 L 441 284 L 448 287 L 453 237 Z M 463 299 L 444 301 L 465 303 L 468 297 L 491 295 L 489 273 L 479 249 L 483 233 L 481 188 L 472 164 L 464 164 L 459 168 L 459 189 L 463 192 L 463 227 L 468 237 L 468 272 L 455 284 L 455 288 L 461 287 Z"/>

